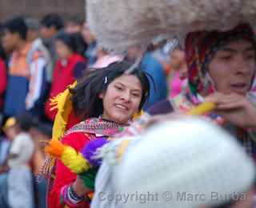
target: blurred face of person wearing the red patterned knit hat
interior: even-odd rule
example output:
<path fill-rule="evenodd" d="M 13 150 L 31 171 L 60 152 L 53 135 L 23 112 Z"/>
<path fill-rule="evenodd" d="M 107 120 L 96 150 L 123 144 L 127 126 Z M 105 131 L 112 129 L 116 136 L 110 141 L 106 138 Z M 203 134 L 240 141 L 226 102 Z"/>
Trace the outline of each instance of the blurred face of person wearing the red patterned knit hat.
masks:
<path fill-rule="evenodd" d="M 246 95 L 255 73 L 255 49 L 249 41 L 232 41 L 218 50 L 209 75 L 218 92 Z"/>

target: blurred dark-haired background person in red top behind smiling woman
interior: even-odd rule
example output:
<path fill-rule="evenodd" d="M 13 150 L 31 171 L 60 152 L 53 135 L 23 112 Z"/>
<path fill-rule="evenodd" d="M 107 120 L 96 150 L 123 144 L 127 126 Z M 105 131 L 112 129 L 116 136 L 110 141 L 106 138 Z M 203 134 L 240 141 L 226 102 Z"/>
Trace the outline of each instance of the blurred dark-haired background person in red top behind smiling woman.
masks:
<path fill-rule="evenodd" d="M 82 77 L 86 69 L 86 59 L 78 53 L 75 34 L 60 33 L 55 38 L 58 61 L 54 68 L 53 82 L 50 88 L 50 97 L 46 102 L 46 116 L 54 120 L 56 110 L 50 111 L 50 99 L 63 92 L 75 79 Z"/>

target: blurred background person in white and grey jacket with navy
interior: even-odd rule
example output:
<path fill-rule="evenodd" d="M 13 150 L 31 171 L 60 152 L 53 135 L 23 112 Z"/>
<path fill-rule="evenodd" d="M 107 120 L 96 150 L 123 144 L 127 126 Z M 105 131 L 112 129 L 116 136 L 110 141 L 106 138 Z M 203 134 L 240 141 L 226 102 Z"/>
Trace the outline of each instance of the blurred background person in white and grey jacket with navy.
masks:
<path fill-rule="evenodd" d="M 30 84 L 26 96 L 26 110 L 34 116 L 41 117 L 44 109 L 43 104 L 50 88 L 52 62 L 50 53 L 39 37 L 40 24 L 38 20 L 26 18 L 25 23 L 28 29 L 26 39 L 31 44 L 27 54 L 27 62 L 30 66 Z"/>

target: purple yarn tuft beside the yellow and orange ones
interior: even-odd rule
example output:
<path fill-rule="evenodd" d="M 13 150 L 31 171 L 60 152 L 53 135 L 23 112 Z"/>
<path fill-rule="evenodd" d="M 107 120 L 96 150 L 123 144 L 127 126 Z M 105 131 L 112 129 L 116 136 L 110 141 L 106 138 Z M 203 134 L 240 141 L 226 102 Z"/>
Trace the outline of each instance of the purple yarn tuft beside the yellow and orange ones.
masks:
<path fill-rule="evenodd" d="M 95 154 L 98 148 L 103 147 L 109 141 L 106 139 L 106 136 L 98 137 L 87 143 L 82 149 L 82 155 L 90 163 L 92 167 L 99 167 L 102 163 L 102 159 L 96 159 Z"/>

